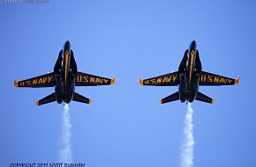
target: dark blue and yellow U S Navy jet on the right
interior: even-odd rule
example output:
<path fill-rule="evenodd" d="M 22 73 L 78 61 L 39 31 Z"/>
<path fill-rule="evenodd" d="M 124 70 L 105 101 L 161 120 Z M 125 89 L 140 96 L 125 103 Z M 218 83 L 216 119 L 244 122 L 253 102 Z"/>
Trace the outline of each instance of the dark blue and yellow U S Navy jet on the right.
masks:
<path fill-rule="evenodd" d="M 182 103 L 199 100 L 213 104 L 215 99 L 209 98 L 199 91 L 200 86 L 221 86 L 238 84 L 240 77 L 232 79 L 230 77 L 218 76 L 202 71 L 200 54 L 193 40 L 190 47 L 185 50 L 184 57 L 179 64 L 178 71 L 166 75 L 156 76 L 142 80 L 139 77 L 139 84 L 150 86 L 178 86 L 178 91 L 162 98 L 159 103 L 164 104 L 175 100 Z"/>

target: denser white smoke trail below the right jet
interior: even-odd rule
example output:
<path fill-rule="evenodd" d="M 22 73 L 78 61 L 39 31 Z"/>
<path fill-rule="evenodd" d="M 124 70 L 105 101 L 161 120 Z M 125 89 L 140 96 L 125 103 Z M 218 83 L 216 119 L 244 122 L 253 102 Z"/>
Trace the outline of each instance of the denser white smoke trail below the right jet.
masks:
<path fill-rule="evenodd" d="M 184 120 L 184 143 L 181 153 L 182 167 L 192 167 L 193 165 L 193 149 L 195 142 L 193 139 L 192 114 L 192 104 L 189 103 L 187 105 L 187 113 Z"/>

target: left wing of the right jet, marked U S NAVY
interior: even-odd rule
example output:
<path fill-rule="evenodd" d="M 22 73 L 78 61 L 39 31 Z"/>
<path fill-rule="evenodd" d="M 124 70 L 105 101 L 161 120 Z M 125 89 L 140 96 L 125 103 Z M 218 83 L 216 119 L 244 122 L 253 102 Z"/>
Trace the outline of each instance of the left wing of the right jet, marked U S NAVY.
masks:
<path fill-rule="evenodd" d="M 176 86 L 179 84 L 178 72 L 172 72 L 162 76 L 155 76 L 142 80 L 139 78 L 139 84 L 148 86 Z"/>

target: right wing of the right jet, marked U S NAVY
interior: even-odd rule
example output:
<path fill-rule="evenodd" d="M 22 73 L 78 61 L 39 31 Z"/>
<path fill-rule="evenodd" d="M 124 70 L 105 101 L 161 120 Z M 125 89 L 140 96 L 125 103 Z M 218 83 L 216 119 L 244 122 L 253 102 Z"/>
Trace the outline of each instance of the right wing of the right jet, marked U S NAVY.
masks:
<path fill-rule="evenodd" d="M 238 84 L 240 77 L 232 79 L 226 76 L 219 76 L 211 74 L 205 71 L 201 71 L 200 74 L 200 85 L 201 86 L 221 86 L 221 85 L 233 85 Z"/>

